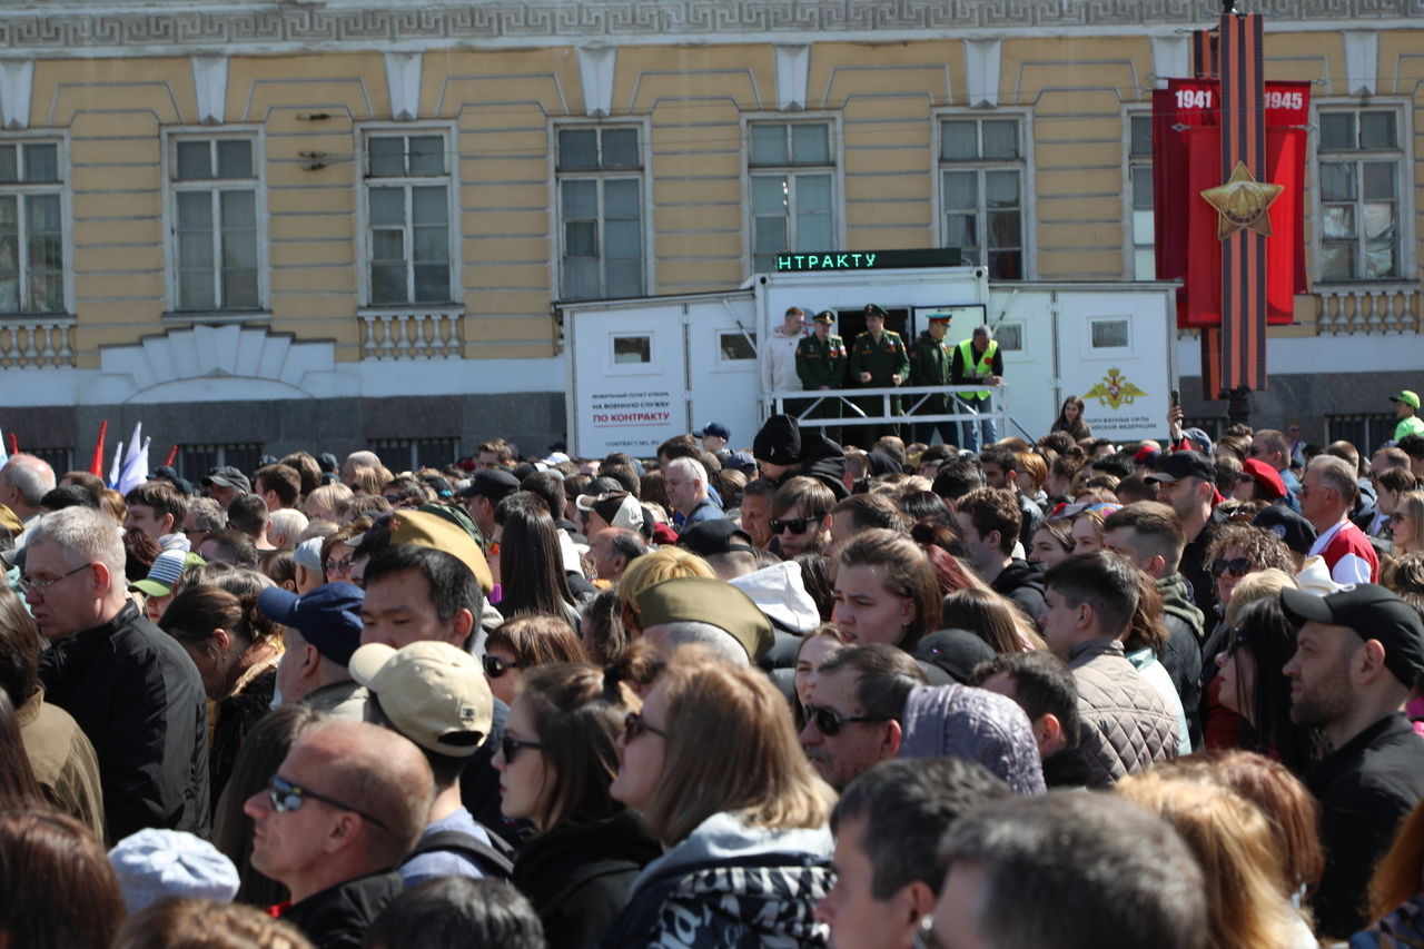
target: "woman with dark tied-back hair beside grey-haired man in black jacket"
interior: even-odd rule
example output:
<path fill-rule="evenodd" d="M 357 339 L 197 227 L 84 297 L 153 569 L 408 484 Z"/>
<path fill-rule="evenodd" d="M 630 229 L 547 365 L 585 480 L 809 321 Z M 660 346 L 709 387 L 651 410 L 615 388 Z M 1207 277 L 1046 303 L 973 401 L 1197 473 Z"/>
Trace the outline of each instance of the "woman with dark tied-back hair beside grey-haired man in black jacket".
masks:
<path fill-rule="evenodd" d="M 174 597 L 158 626 L 184 647 L 198 667 L 204 691 L 216 702 L 208 750 L 216 809 L 238 748 L 272 707 L 282 631 L 258 610 L 255 594 L 238 597 L 204 586 L 187 587 Z"/>

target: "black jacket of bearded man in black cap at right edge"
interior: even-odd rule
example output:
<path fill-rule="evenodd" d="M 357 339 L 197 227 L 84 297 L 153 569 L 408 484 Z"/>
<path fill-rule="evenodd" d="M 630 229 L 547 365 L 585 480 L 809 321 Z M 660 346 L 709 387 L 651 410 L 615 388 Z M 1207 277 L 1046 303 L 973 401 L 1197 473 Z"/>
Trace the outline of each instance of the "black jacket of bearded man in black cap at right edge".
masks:
<path fill-rule="evenodd" d="M 1321 761 L 1306 787 L 1320 799 L 1326 845 L 1316 922 L 1321 936 L 1347 939 L 1367 922 L 1360 906 L 1374 864 L 1424 797 L 1424 741 L 1401 712 L 1387 715 Z"/>

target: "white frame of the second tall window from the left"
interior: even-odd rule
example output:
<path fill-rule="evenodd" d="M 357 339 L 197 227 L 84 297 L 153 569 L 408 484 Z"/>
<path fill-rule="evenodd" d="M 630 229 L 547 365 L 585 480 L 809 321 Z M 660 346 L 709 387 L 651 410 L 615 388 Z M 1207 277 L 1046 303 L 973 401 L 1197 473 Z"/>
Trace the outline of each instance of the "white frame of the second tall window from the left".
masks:
<path fill-rule="evenodd" d="M 178 181 L 178 142 L 179 141 L 219 141 L 246 140 L 252 142 L 252 187 L 255 194 L 253 214 L 256 215 L 256 268 L 258 268 L 258 304 L 249 308 L 228 308 L 219 304 L 211 309 L 179 311 L 181 305 L 181 275 L 178 268 L 178 192 L 179 191 L 212 191 L 216 192 L 224 181 L 242 181 L 239 178 L 209 178 L 204 181 Z M 162 177 L 164 177 L 164 259 L 167 264 L 168 311 L 175 316 L 191 318 L 201 313 L 252 313 L 271 312 L 271 266 L 269 266 L 269 238 L 268 238 L 268 195 L 266 195 L 266 131 L 262 125 L 194 125 L 165 128 L 162 137 Z M 215 218 L 216 219 L 216 218 Z M 218 228 L 221 229 L 221 228 Z M 214 252 L 216 268 L 215 292 L 222 292 L 222 258 L 221 249 Z"/>

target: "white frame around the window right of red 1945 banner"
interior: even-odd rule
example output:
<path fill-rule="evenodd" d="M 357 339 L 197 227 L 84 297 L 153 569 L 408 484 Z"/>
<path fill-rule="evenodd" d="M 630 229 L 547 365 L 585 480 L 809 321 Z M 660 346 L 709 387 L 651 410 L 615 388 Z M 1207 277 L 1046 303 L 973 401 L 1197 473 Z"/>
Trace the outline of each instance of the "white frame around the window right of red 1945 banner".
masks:
<path fill-rule="evenodd" d="M 1313 113 L 1314 127 L 1319 130 L 1321 127 L 1321 113 L 1354 113 L 1358 115 L 1361 111 L 1394 111 L 1394 130 L 1398 138 L 1398 180 L 1396 181 L 1396 194 L 1398 195 L 1400 214 L 1398 214 L 1398 274 L 1394 276 L 1356 276 L 1350 279 L 1326 279 L 1319 276 L 1314 281 L 1316 286 L 1360 286 L 1360 285 L 1380 285 L 1380 284 L 1404 284 L 1415 279 L 1418 274 L 1417 254 L 1414 248 L 1414 214 L 1417 212 L 1414 199 L 1414 123 L 1411 121 L 1414 114 L 1414 105 L 1407 98 L 1398 97 L 1377 97 L 1370 98 L 1367 104 L 1361 104 L 1358 98 L 1326 98 L 1316 100 L 1310 104 Z M 1356 125 L 1358 130 L 1358 125 Z M 1309 172 L 1307 172 L 1307 187 L 1310 188 L 1310 214 L 1312 221 L 1312 241 L 1310 241 L 1310 255 L 1312 255 L 1312 274 L 1324 272 L 1324 201 L 1323 188 L 1320 187 L 1320 162 L 1321 160 L 1330 161 L 1331 155 L 1341 152 L 1321 152 L 1320 151 L 1320 133 L 1312 134 L 1310 154 L 1309 154 Z M 1364 157 L 1368 152 L 1357 151 L 1354 155 Z M 1358 158 L 1357 158 L 1358 161 Z M 1363 222 L 1357 222 L 1357 227 L 1363 227 Z M 1358 239 L 1358 238 L 1357 238 Z"/>

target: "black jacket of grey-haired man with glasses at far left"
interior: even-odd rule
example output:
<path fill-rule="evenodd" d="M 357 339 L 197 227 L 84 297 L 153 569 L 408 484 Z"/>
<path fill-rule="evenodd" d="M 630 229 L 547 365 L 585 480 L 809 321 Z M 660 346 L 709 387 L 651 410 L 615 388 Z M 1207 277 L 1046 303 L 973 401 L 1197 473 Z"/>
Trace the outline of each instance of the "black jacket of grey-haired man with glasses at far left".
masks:
<path fill-rule="evenodd" d="M 40 678 L 94 745 L 111 842 L 150 826 L 208 836 L 208 697 L 171 636 L 127 603 L 54 643 Z"/>

